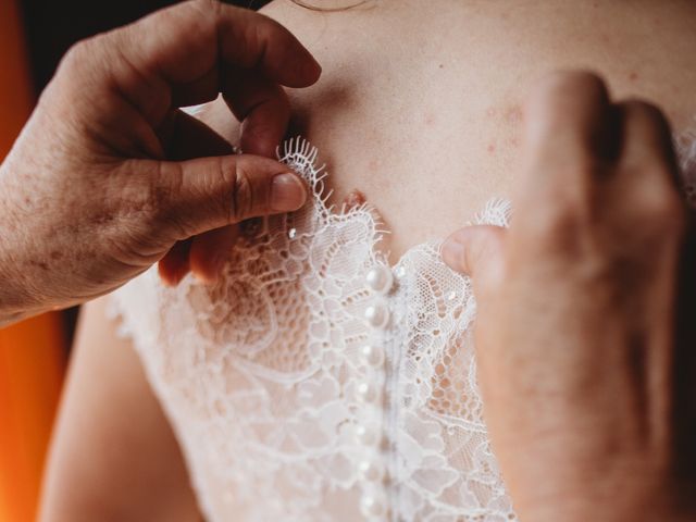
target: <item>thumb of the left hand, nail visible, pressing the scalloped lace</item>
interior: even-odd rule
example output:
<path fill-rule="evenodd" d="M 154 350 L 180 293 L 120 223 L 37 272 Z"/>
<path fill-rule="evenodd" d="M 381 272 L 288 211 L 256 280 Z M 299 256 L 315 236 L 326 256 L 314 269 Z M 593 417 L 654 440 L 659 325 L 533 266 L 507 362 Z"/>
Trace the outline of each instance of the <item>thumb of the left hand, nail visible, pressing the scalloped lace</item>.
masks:
<path fill-rule="evenodd" d="M 250 217 L 291 212 L 307 200 L 302 179 L 286 165 L 256 156 L 158 162 L 151 201 L 158 224 L 186 239 Z"/>

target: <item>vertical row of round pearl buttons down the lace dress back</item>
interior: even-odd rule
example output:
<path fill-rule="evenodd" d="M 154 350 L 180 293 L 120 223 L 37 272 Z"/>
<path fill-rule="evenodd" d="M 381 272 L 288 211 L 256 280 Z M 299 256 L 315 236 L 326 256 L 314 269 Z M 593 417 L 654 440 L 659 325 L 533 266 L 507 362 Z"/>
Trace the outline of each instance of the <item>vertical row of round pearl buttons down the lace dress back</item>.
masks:
<path fill-rule="evenodd" d="M 389 309 L 385 296 L 391 290 L 394 277 L 385 265 L 370 269 L 365 275 L 365 284 L 376 296 L 374 302 L 365 308 L 364 316 L 368 323 L 377 331 L 385 330 L 389 324 Z M 376 333 L 376 332 L 375 332 Z M 377 337 L 374 335 L 373 337 Z M 368 344 L 360 349 L 362 363 L 372 371 L 378 371 L 385 362 L 385 353 L 378 344 Z M 368 371 L 368 374 L 371 372 Z M 381 401 L 382 383 L 374 380 L 363 381 L 356 387 L 358 399 L 364 403 L 378 408 Z M 381 414 L 381 413 L 380 413 Z M 357 438 L 365 446 L 365 453 L 370 455 L 358 462 L 358 476 L 363 481 L 363 492 L 360 498 L 360 511 L 369 520 L 384 518 L 387 513 L 387 500 L 383 481 L 385 469 L 380 458 L 380 434 L 368 430 L 364 425 L 356 426 Z"/>

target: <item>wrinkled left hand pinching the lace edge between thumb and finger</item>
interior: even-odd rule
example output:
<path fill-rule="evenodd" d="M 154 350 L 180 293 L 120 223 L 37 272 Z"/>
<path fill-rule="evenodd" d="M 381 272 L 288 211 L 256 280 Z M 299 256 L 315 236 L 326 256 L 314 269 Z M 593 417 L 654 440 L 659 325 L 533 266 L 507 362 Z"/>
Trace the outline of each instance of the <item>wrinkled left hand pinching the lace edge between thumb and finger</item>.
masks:
<path fill-rule="evenodd" d="M 177 241 L 301 207 L 306 189 L 287 167 L 232 156 L 177 108 L 222 92 L 243 121 L 241 148 L 271 156 L 289 116 L 281 85 L 320 73 L 281 25 L 216 1 L 76 45 L 0 170 L 0 324 L 108 293 Z M 203 146 L 216 157 L 165 161 Z M 190 251 L 203 273 L 219 264 L 210 246 Z"/>

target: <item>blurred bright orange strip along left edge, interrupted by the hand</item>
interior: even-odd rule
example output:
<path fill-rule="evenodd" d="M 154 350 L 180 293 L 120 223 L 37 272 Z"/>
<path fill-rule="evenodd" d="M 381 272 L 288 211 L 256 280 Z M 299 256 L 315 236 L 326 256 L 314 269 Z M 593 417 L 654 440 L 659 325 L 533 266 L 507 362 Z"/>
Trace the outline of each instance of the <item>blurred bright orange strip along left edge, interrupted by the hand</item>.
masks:
<path fill-rule="evenodd" d="M 34 104 L 17 5 L 0 3 L 0 158 Z M 60 393 L 65 335 L 58 313 L 0 330 L 0 522 L 35 518 Z"/>

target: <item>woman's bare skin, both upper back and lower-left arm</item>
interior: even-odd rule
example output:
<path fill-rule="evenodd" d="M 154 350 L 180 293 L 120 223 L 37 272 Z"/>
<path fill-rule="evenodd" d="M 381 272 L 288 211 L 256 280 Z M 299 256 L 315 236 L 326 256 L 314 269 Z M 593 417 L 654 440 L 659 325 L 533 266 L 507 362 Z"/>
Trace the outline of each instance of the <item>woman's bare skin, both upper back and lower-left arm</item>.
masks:
<path fill-rule="evenodd" d="M 391 262 L 510 196 L 524 96 L 554 70 L 597 72 L 614 97 L 659 104 L 678 132 L 696 115 L 689 1 L 377 0 L 320 13 L 276 0 L 263 12 L 324 71 L 290 91 L 291 134 L 319 148 L 335 202 L 358 189 L 377 209 Z M 223 103 L 202 117 L 237 141 Z M 40 518 L 199 520 L 174 435 L 103 308 L 80 319 Z"/>

